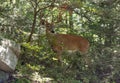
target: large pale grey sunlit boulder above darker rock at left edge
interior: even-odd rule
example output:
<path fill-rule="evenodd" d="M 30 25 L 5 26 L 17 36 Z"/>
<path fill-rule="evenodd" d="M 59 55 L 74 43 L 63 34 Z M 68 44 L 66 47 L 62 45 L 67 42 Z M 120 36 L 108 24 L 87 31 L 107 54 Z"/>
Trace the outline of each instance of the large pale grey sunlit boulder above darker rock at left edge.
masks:
<path fill-rule="evenodd" d="M 0 39 L 0 70 L 12 72 L 15 70 L 20 54 L 20 45 L 8 39 Z"/>

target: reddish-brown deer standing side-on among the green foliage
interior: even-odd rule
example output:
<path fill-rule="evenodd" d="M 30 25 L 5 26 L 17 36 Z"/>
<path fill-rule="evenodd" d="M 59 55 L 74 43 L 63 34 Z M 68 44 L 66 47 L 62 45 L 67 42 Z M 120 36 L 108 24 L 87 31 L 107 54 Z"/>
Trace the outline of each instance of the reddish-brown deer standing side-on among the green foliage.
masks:
<path fill-rule="evenodd" d="M 53 33 L 53 24 L 45 21 L 46 36 L 53 51 L 57 54 L 58 60 L 61 62 L 61 54 L 65 50 L 80 51 L 85 54 L 89 48 L 89 42 L 82 36 L 70 34 Z"/>

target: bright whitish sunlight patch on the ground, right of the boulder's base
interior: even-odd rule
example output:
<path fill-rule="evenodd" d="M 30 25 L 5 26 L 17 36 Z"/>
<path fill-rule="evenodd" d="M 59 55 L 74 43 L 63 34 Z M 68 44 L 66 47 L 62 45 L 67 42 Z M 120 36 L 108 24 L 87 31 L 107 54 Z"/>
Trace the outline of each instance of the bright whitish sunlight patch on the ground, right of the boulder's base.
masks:
<path fill-rule="evenodd" d="M 26 83 L 52 83 L 52 81 L 54 80 L 51 77 L 44 77 L 42 76 L 42 74 L 40 74 L 39 72 L 33 72 L 31 74 L 24 74 L 24 73 L 20 73 L 17 72 L 16 74 L 13 74 L 13 78 L 15 79 L 15 83 L 21 83 L 21 82 L 25 82 Z"/>

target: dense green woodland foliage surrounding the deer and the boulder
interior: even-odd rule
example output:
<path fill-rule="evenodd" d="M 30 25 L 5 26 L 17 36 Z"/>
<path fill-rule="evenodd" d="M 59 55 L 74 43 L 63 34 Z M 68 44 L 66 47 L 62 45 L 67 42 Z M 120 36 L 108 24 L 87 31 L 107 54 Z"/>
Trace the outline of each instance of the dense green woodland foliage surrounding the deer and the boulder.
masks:
<path fill-rule="evenodd" d="M 0 35 L 20 43 L 22 50 L 16 68 L 22 76 L 12 82 L 30 83 L 38 72 L 41 77 L 35 81 L 50 77 L 53 83 L 119 83 L 119 6 L 119 0 L 1 0 Z M 87 38 L 88 54 L 64 52 L 60 66 L 43 19 L 53 23 L 57 33 Z"/>

